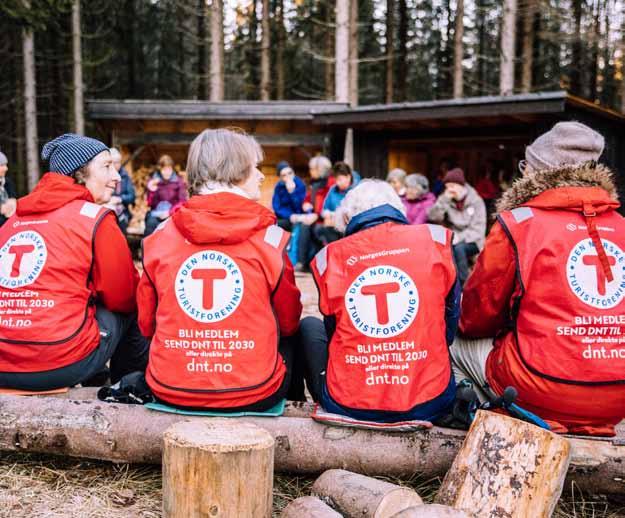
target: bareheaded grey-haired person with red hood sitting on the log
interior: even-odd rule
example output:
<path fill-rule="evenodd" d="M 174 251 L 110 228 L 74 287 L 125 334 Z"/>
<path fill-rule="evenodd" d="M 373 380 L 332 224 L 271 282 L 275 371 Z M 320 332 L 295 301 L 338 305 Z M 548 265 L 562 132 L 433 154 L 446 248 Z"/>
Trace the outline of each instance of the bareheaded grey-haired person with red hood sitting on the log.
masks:
<path fill-rule="evenodd" d="M 296 380 L 300 292 L 289 234 L 257 201 L 263 153 L 252 137 L 205 130 L 191 144 L 191 198 L 143 241 L 139 325 L 152 337 L 146 380 L 165 403 L 263 411 Z"/>

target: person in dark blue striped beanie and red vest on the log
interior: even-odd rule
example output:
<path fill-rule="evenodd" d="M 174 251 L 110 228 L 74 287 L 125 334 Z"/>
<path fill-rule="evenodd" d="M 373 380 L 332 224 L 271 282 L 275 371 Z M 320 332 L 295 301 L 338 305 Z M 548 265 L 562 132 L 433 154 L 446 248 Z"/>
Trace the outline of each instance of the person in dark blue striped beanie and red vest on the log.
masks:
<path fill-rule="evenodd" d="M 109 148 L 74 134 L 48 142 L 34 191 L 0 229 L 0 387 L 43 391 L 144 370 L 139 276 L 115 213 Z"/>

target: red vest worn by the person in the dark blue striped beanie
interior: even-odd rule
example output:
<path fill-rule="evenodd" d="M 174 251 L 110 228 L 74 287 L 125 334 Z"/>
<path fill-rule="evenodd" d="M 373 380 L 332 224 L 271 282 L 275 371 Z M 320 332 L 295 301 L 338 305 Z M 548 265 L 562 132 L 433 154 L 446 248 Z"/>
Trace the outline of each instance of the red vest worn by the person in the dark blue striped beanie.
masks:
<path fill-rule="evenodd" d="M 0 228 L 0 372 L 58 369 L 98 346 L 90 276 L 108 212 L 75 200 Z"/>

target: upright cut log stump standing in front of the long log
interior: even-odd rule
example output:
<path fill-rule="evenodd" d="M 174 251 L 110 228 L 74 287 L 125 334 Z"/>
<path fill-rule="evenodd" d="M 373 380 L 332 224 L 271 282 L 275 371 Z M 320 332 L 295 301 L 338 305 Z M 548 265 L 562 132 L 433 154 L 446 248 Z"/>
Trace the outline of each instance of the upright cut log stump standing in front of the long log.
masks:
<path fill-rule="evenodd" d="M 216 419 L 168 428 L 163 448 L 165 518 L 269 518 L 273 437 L 250 423 Z"/>

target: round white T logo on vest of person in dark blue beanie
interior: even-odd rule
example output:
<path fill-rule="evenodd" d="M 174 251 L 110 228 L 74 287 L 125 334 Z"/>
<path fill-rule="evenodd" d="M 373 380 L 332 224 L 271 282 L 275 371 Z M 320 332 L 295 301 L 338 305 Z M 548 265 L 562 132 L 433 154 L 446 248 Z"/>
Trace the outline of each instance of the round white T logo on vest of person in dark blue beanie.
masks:
<path fill-rule="evenodd" d="M 43 237 L 34 230 L 18 232 L 0 248 L 0 286 L 21 288 L 37 280 L 48 249 Z"/>

